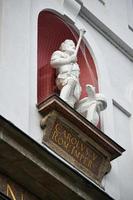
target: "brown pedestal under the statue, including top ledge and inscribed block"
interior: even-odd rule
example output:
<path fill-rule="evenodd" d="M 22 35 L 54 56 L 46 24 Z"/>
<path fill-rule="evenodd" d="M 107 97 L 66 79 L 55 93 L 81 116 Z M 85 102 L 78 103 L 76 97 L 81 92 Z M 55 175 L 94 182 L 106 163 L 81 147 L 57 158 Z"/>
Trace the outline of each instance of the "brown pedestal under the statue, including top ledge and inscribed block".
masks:
<path fill-rule="evenodd" d="M 43 143 L 81 174 L 101 186 L 111 160 L 124 149 L 53 95 L 38 107 L 42 114 Z"/>

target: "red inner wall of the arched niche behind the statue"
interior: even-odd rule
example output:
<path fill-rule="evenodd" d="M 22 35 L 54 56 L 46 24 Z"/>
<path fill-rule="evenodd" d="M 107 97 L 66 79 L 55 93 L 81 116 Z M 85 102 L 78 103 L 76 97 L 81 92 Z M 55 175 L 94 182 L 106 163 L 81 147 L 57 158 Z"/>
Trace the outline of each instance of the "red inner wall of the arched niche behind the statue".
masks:
<path fill-rule="evenodd" d="M 42 11 L 38 17 L 38 104 L 54 93 L 58 93 L 55 79 L 55 70 L 50 66 L 50 58 L 65 39 L 77 43 L 78 33 L 62 17 L 51 11 Z M 78 52 L 80 66 L 80 84 L 82 86 L 81 98 L 85 97 L 86 84 L 92 84 L 98 91 L 98 79 L 93 58 L 85 42 L 81 43 Z"/>

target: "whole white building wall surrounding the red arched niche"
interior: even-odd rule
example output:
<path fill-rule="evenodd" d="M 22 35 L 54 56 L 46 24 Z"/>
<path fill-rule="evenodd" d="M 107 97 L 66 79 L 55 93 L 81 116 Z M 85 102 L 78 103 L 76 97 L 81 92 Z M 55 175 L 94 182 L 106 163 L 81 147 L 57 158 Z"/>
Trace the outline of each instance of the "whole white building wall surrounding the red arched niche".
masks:
<path fill-rule="evenodd" d="M 127 1 L 103 2 L 83 0 L 100 21 L 133 47 Z M 85 40 L 97 67 L 100 91 L 108 101 L 102 114 L 103 130 L 127 150 L 113 161 L 103 182 L 105 191 L 117 200 L 132 200 L 133 62 L 79 16 L 80 8 L 74 0 L 0 0 L 0 114 L 41 143 L 41 116 L 36 108 L 38 14 L 44 9 L 66 14 L 78 29 L 87 31 Z"/>

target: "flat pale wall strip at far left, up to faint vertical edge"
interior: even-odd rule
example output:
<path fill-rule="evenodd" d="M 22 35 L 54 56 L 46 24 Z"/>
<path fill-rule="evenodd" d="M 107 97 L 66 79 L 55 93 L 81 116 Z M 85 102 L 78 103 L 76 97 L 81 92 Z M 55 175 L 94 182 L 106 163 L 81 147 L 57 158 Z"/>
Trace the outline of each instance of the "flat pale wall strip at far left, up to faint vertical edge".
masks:
<path fill-rule="evenodd" d="M 0 113 L 25 131 L 29 113 L 29 3 L 3 1 L 0 28 Z"/>

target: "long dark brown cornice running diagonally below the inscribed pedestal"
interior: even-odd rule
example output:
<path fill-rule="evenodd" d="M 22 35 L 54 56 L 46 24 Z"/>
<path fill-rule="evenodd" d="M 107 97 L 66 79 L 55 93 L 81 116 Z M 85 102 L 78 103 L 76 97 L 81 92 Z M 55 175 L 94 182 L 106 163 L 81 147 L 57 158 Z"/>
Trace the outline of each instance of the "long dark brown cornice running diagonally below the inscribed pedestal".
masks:
<path fill-rule="evenodd" d="M 105 191 L 0 116 L 0 172 L 40 199 L 112 200 Z M 62 195 L 63 194 L 63 195 Z"/>

